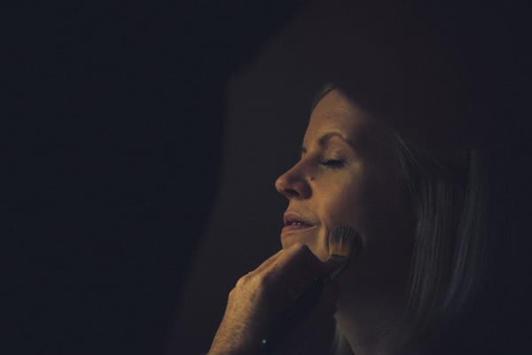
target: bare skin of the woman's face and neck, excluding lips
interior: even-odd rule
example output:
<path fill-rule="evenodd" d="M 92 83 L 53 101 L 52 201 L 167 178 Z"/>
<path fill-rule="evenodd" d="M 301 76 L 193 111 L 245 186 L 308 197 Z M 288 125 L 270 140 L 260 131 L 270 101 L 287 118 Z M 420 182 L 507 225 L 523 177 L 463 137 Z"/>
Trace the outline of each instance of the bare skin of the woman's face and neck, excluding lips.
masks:
<path fill-rule="evenodd" d="M 330 138 L 320 144 L 324 136 Z M 325 260 L 334 225 L 352 226 L 362 237 L 358 260 L 338 279 L 335 316 L 357 353 L 391 347 L 384 329 L 397 327 L 404 306 L 414 214 L 399 171 L 387 128 L 333 90 L 311 114 L 301 160 L 276 182 L 289 201 L 287 211 L 314 225 L 282 233 L 283 248 L 301 242 Z"/>

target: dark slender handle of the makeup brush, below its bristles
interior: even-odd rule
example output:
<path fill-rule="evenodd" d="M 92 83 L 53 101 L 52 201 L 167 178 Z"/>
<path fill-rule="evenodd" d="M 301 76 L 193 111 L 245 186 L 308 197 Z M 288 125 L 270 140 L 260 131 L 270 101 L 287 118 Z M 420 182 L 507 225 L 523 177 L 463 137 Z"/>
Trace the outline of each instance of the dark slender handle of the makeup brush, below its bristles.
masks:
<path fill-rule="evenodd" d="M 317 300 L 324 292 L 325 279 L 314 279 L 312 284 L 298 297 L 292 307 L 284 312 L 276 323 L 270 334 L 261 341 L 264 351 L 271 352 L 278 348 L 286 335 L 288 335 L 301 320 L 305 319 L 312 307 L 317 304 Z"/>

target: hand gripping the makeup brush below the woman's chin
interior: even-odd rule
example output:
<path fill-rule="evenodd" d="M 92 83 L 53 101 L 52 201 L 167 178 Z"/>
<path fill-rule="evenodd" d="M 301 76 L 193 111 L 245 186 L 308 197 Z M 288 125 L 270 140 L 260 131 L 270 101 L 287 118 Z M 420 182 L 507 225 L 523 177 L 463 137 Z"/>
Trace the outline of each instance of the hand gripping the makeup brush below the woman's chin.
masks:
<path fill-rule="evenodd" d="M 259 354 L 260 342 L 281 314 L 317 277 L 332 272 L 335 264 L 321 262 L 307 246 L 297 244 L 270 256 L 253 272 L 241 277 L 229 294 L 222 323 L 209 355 Z M 325 290 L 309 317 L 293 329 L 281 344 L 280 353 L 296 353 L 313 327 L 330 323 L 336 310 L 338 288 Z"/>

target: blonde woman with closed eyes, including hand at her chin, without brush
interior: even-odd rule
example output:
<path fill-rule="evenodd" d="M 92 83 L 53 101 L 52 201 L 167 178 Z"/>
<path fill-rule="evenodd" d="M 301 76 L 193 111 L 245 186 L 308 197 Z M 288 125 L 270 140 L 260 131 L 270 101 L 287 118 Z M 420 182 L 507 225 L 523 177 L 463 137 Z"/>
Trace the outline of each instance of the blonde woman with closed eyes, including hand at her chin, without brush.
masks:
<path fill-rule="evenodd" d="M 332 271 L 326 236 L 336 225 L 353 227 L 362 251 L 286 335 L 280 353 L 325 353 L 309 338 L 332 317 L 336 353 L 495 349 L 489 332 L 506 335 L 482 325 L 494 324 L 485 320 L 499 319 L 496 311 L 510 314 L 499 276 L 511 269 L 511 243 L 504 200 L 487 193 L 497 171 L 485 166 L 474 149 L 435 155 L 412 147 L 328 87 L 310 116 L 300 161 L 276 181 L 288 199 L 283 249 L 231 291 L 209 354 L 261 353 L 260 339 L 279 315 Z"/>

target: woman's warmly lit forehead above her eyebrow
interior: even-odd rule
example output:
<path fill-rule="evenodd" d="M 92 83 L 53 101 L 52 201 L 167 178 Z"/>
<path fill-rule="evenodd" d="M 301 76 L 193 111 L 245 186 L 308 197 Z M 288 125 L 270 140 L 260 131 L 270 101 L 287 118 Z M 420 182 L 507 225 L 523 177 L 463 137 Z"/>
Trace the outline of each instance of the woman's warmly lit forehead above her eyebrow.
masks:
<path fill-rule="evenodd" d="M 322 98 L 310 115 L 305 142 L 316 141 L 329 132 L 340 132 L 349 140 L 360 142 L 373 136 L 379 124 L 341 91 L 330 91 Z"/>

